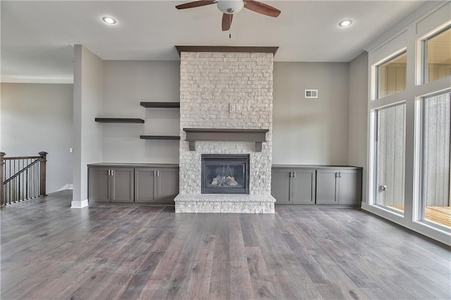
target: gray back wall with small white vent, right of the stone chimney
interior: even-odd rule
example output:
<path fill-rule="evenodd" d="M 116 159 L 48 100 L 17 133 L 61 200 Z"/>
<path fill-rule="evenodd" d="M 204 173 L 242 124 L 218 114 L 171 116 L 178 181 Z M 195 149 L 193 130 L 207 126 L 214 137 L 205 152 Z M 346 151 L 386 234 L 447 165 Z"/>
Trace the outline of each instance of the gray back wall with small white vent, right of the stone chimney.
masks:
<path fill-rule="evenodd" d="M 274 63 L 273 77 L 273 164 L 346 165 L 349 63 Z"/>

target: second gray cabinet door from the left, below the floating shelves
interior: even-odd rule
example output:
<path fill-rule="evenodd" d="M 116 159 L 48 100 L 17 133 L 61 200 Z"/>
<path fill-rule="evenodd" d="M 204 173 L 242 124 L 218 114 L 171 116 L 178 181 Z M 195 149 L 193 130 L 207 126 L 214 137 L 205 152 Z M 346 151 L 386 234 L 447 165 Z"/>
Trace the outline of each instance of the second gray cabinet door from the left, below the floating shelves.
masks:
<path fill-rule="evenodd" d="M 133 202 L 134 168 L 111 169 L 111 202 Z"/>

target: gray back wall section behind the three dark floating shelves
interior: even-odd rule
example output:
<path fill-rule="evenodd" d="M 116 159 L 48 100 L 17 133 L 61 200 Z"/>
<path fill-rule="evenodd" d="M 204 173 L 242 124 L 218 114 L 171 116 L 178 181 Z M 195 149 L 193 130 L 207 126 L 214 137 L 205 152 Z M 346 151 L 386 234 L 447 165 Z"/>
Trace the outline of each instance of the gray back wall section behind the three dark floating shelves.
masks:
<path fill-rule="evenodd" d="M 176 108 L 144 108 L 142 101 L 178 102 L 180 61 L 104 61 L 105 118 L 142 118 L 144 124 L 104 124 L 103 160 L 109 163 L 178 163 L 178 141 L 140 135 L 179 135 Z"/>

